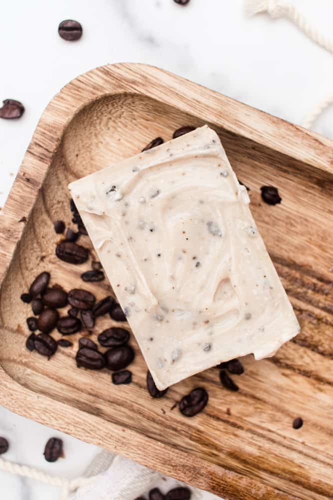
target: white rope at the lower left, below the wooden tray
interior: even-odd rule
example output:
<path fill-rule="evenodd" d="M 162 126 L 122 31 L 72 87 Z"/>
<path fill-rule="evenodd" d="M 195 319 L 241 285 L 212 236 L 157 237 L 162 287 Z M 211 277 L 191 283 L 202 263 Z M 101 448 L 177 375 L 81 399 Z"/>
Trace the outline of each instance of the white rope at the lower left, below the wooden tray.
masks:
<path fill-rule="evenodd" d="M 37 470 L 27 465 L 19 465 L 18 463 L 9 462 L 0 458 L 0 469 L 10 474 L 20 475 L 22 477 L 29 477 L 45 484 L 58 486 L 61 491 L 60 500 L 68 500 L 69 495 L 73 493 L 78 487 L 87 484 L 95 479 L 95 477 L 76 477 L 75 479 L 63 479 L 61 477 L 53 477 L 45 474 L 41 470 Z"/>

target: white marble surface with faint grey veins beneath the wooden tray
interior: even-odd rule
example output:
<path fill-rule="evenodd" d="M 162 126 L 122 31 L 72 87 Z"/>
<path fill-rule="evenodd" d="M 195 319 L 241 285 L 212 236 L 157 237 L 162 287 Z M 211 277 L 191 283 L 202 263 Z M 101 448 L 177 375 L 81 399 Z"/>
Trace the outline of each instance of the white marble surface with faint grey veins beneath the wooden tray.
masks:
<path fill-rule="evenodd" d="M 313 23 L 332 32 L 332 0 L 293 0 Z M 57 25 L 79 20 L 81 40 L 59 38 Z M 243 0 L 11 0 L 1 4 L 0 99 L 21 100 L 21 119 L 0 120 L 0 206 L 37 120 L 51 97 L 79 73 L 116 61 L 164 67 L 231 97 L 302 123 L 332 92 L 333 55 L 308 40 L 288 20 L 248 19 Z M 315 129 L 333 136 L 332 109 Z M 65 459 L 42 455 L 59 432 L 0 407 L 0 435 L 10 460 L 53 474 L 80 474 L 97 448 L 63 435 Z M 56 500 L 58 491 L 0 472 L 0 498 Z"/>

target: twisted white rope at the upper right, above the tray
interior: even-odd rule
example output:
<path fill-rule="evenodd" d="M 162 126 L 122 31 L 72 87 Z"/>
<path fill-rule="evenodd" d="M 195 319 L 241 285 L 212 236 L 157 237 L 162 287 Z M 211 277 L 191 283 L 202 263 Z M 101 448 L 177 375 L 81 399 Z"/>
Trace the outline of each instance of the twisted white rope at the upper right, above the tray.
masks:
<path fill-rule="evenodd" d="M 248 15 L 255 15 L 260 12 L 268 12 L 273 19 L 278 17 L 288 17 L 313 41 L 318 43 L 329 52 L 333 52 L 333 42 L 324 36 L 318 29 L 311 26 L 310 22 L 296 9 L 296 7 L 286 0 L 245 0 L 245 10 Z M 322 112 L 333 103 L 333 94 L 330 94 L 306 117 L 303 126 L 311 128 Z"/>

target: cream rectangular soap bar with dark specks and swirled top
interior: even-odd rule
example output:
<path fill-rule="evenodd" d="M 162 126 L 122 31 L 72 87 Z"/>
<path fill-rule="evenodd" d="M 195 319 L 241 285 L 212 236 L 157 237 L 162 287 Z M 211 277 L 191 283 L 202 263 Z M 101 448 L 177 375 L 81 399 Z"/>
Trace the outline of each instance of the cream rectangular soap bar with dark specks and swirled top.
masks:
<path fill-rule="evenodd" d="M 207 125 L 69 185 L 156 386 L 273 355 L 299 324 Z"/>

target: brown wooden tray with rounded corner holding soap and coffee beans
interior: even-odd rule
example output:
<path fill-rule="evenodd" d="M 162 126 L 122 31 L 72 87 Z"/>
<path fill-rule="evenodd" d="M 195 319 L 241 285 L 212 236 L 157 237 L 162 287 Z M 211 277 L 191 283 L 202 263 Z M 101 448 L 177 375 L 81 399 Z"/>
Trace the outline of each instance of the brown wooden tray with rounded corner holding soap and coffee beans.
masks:
<path fill-rule="evenodd" d="M 110 290 L 80 280 L 89 263 L 54 255 L 52 221 L 71 218 L 68 182 L 137 153 L 157 135 L 166 140 L 181 125 L 204 123 L 251 189 L 255 219 L 302 333 L 273 359 L 245 358 L 237 393 L 221 386 L 214 368 L 161 399 L 147 393 L 137 346 L 128 386 L 112 385 L 109 371 L 76 368 L 79 334 L 73 350 L 59 348 L 50 361 L 28 352 L 31 309 L 19 296 L 38 272 L 49 270 L 51 283 L 84 286 L 97 298 Z M 332 146 L 151 66 L 108 65 L 71 81 L 45 109 L 1 219 L 0 404 L 230 500 L 332 498 Z M 262 202 L 263 184 L 278 186 L 281 205 Z M 98 321 L 95 331 L 105 324 L 110 320 Z M 197 385 L 207 388 L 209 403 L 186 418 L 172 407 Z M 297 416 L 304 419 L 299 430 L 292 426 Z"/>

